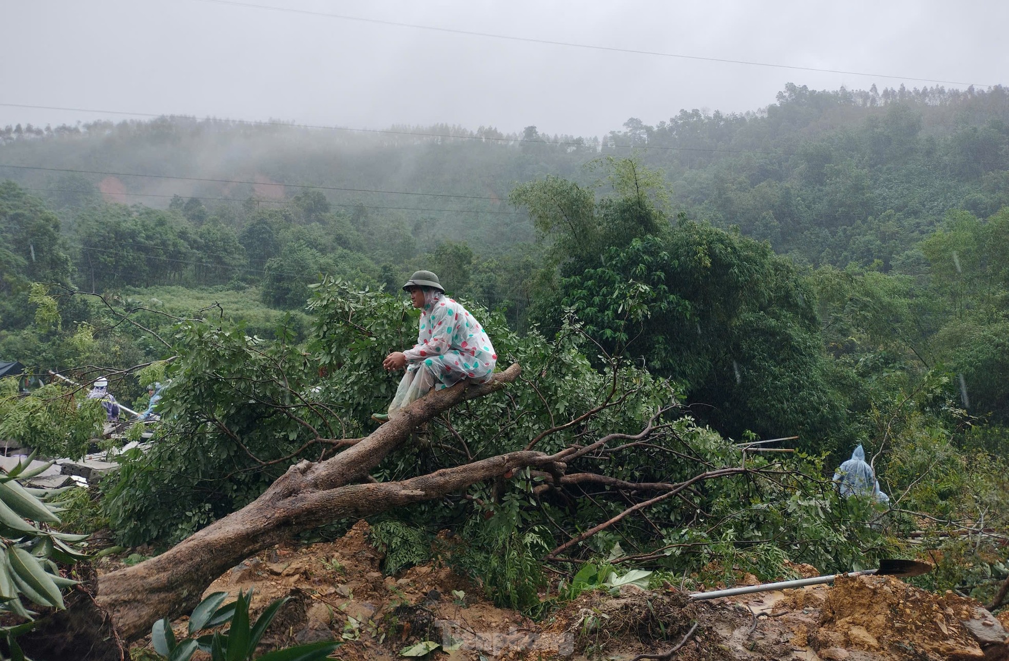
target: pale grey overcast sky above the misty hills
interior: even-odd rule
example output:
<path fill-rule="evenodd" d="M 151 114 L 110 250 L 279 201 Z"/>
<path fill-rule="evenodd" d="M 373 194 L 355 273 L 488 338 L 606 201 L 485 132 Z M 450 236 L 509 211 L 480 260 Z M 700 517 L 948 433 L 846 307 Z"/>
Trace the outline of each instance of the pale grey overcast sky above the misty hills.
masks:
<path fill-rule="evenodd" d="M 321 16 L 980 86 L 1009 3 L 3 0 L 0 104 L 385 128 L 602 135 L 681 108 L 755 110 L 788 82 L 930 85 L 532 43 Z M 290 11 L 300 10 L 300 11 Z M 317 12 L 317 13 L 301 13 Z M 946 85 L 945 87 L 958 87 Z M 119 119 L 0 105 L 0 126 Z"/>

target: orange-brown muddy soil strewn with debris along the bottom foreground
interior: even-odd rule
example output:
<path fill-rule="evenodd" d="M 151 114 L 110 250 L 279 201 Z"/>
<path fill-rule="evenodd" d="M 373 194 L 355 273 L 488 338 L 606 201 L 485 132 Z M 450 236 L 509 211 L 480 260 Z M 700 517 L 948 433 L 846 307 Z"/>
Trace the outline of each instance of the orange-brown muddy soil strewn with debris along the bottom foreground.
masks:
<path fill-rule="evenodd" d="M 1009 612 L 995 617 L 971 600 L 891 577 L 843 577 L 831 586 L 710 602 L 691 602 L 672 586 L 629 585 L 615 594 L 583 593 L 533 622 L 495 608 L 437 562 L 384 576 L 381 559 L 361 521 L 335 542 L 250 557 L 207 592 L 254 588 L 254 612 L 290 597 L 263 649 L 335 638 L 344 643 L 335 658 L 345 661 L 403 659 L 403 650 L 423 641 L 440 646 L 426 658 L 443 661 L 631 661 L 658 658 L 688 633 L 672 659 L 1009 661 Z M 185 627 L 185 619 L 176 623 L 179 635 Z"/>

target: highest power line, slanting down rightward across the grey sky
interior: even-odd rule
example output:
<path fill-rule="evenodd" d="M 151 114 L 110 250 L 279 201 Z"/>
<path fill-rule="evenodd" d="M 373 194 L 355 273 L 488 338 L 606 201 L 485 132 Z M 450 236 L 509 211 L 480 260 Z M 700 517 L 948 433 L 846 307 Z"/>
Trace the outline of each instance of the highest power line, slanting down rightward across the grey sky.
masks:
<path fill-rule="evenodd" d="M 526 43 L 540 43 L 540 44 L 554 45 L 554 46 L 566 46 L 566 47 L 571 47 L 571 48 L 587 48 L 587 49 L 591 49 L 591 50 L 605 50 L 605 51 L 609 51 L 609 52 L 627 52 L 627 53 L 632 53 L 632 54 L 636 54 L 636 55 L 656 55 L 656 56 L 660 56 L 660 57 L 676 57 L 678 59 L 694 59 L 694 60 L 700 60 L 700 61 L 711 61 L 711 62 L 719 62 L 719 63 L 727 63 L 727 64 L 744 64 L 744 65 L 747 65 L 747 67 L 768 67 L 768 68 L 772 68 L 772 69 L 789 69 L 789 70 L 792 70 L 792 71 L 816 72 L 816 73 L 820 73 L 820 74 L 843 74 L 845 76 L 863 76 L 863 77 L 867 77 L 867 78 L 886 78 L 886 79 L 893 79 L 893 80 L 897 80 L 897 81 L 916 81 L 916 82 L 919 82 L 919 83 L 938 83 L 938 84 L 943 84 L 943 85 L 967 85 L 967 86 L 974 85 L 974 86 L 985 87 L 985 88 L 994 87 L 992 85 L 982 85 L 982 84 L 979 84 L 979 83 L 965 83 L 963 81 L 940 81 L 940 80 L 930 79 L 930 78 L 915 78 L 915 77 L 912 77 L 912 76 L 888 76 L 888 75 L 885 75 L 885 74 L 868 74 L 866 72 L 849 72 L 849 71 L 837 70 L 837 69 L 819 69 L 819 68 L 816 68 L 816 67 L 799 67 L 797 64 L 778 64 L 778 63 L 774 63 L 774 62 L 761 62 L 761 61 L 754 61 L 754 60 L 749 60 L 749 59 L 730 59 L 730 58 L 725 58 L 725 57 L 706 57 L 706 56 L 702 56 L 702 55 L 688 55 L 688 54 L 675 53 L 675 52 L 662 52 L 662 51 L 658 51 L 658 50 L 639 50 L 639 49 L 636 49 L 636 48 L 621 48 L 621 47 L 618 47 L 618 46 L 603 46 L 603 45 L 592 44 L 592 43 L 576 43 L 576 42 L 572 42 L 572 41 L 557 41 L 557 40 L 554 40 L 554 39 L 537 39 L 537 38 L 533 38 L 533 37 L 515 36 L 515 35 L 512 35 L 512 34 L 496 34 L 496 33 L 493 33 L 493 32 L 477 32 L 477 31 L 474 31 L 474 30 L 462 30 L 462 29 L 457 29 L 457 28 L 452 28 L 452 27 L 439 27 L 439 26 L 436 26 L 436 25 L 419 25 L 419 24 L 416 24 L 416 23 L 402 23 L 402 22 L 399 22 L 399 21 L 383 20 L 383 19 L 379 19 L 379 18 L 364 18 L 364 17 L 361 17 L 361 16 L 349 16 L 349 15 L 346 15 L 346 14 L 331 14 L 331 13 L 322 12 L 322 11 L 311 11 L 311 10 L 308 10 L 308 9 L 294 9 L 292 7 L 272 7 L 272 6 L 269 6 L 269 5 L 258 5 L 258 4 L 248 3 L 248 2 L 235 2 L 234 0 L 197 0 L 197 1 L 198 2 L 211 3 L 211 4 L 219 4 L 219 5 L 230 5 L 230 6 L 234 6 L 234 7 L 247 7 L 247 8 L 251 8 L 251 9 L 264 9 L 264 10 L 268 10 L 268 11 L 285 11 L 285 12 L 289 12 L 289 13 L 293 13 L 293 14 L 304 14 L 304 15 L 308 15 L 308 16 L 322 16 L 322 17 L 325 17 L 325 18 L 336 18 L 336 19 L 339 19 L 339 20 L 358 21 L 358 22 L 361 22 L 361 23 L 373 23 L 375 25 L 390 25 L 390 26 L 395 26 L 395 27 L 409 27 L 409 28 L 419 29 L 419 30 L 430 30 L 430 31 L 433 31 L 433 32 L 447 32 L 447 33 L 450 33 L 450 34 L 465 34 L 467 36 L 479 36 L 479 37 L 486 37 L 486 38 L 491 38 L 491 39 L 504 39 L 504 40 L 508 40 L 508 41 L 523 41 L 523 42 L 526 42 Z"/>

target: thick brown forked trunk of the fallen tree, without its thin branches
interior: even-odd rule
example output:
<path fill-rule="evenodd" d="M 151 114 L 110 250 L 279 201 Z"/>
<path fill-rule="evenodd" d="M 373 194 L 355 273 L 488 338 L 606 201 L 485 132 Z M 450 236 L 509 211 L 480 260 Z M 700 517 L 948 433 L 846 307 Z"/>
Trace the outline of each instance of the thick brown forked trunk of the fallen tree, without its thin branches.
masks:
<path fill-rule="evenodd" d="M 123 639 L 135 640 L 160 618 L 192 611 L 207 586 L 226 570 L 294 534 L 438 498 L 510 470 L 549 461 L 542 452 L 511 452 L 404 482 L 351 484 L 364 480 L 417 425 L 467 399 L 500 390 L 520 372 L 519 365 L 513 365 L 487 384 L 462 383 L 431 393 L 336 456 L 291 467 L 241 510 L 161 555 L 102 576 L 95 597 L 98 606 L 109 614 Z"/>

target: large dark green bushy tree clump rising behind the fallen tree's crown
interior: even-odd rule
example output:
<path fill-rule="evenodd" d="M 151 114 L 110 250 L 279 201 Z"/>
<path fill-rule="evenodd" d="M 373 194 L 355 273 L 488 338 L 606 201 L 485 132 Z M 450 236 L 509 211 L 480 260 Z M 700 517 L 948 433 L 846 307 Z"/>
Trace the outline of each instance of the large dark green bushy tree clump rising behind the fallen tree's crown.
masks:
<path fill-rule="evenodd" d="M 727 434 L 800 434 L 821 449 L 847 440 L 815 299 L 795 268 L 766 244 L 682 216 L 660 230 L 660 209 L 647 196 L 656 177 L 633 160 L 610 168 L 618 194 L 585 208 L 579 222 L 588 229 L 544 206 L 576 184 L 548 179 L 513 196 L 545 234 L 561 236 L 552 243 L 558 277 L 540 291 L 534 317 L 557 327 L 561 310 L 572 309 L 607 353 L 640 357 L 712 405 L 698 415 Z M 603 247 L 586 248 L 583 234 Z"/>

